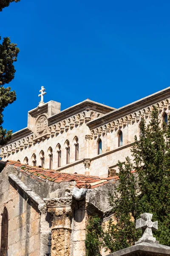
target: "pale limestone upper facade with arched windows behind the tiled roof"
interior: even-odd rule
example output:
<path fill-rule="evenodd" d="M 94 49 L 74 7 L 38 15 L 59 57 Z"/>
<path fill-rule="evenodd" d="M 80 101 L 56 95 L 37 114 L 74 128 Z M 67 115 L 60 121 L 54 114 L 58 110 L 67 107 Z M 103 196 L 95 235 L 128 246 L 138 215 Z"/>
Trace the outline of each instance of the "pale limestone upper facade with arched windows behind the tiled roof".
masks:
<path fill-rule="evenodd" d="M 149 122 L 153 105 L 163 120 L 170 109 L 170 87 L 119 109 L 87 99 L 60 111 L 60 103 L 50 101 L 28 112 L 27 128 L 13 134 L 0 156 L 3 161 L 108 177 L 118 160 L 130 156 L 140 121 Z"/>

